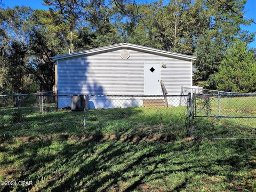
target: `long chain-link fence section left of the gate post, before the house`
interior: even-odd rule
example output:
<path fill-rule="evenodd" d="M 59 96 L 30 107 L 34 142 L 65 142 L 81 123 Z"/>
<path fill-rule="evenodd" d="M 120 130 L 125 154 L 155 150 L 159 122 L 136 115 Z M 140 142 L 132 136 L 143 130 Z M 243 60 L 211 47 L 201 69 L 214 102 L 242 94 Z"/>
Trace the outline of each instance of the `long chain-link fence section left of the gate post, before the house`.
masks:
<path fill-rule="evenodd" d="M 188 95 L 2 95 L 0 137 L 105 134 L 186 137 Z"/>

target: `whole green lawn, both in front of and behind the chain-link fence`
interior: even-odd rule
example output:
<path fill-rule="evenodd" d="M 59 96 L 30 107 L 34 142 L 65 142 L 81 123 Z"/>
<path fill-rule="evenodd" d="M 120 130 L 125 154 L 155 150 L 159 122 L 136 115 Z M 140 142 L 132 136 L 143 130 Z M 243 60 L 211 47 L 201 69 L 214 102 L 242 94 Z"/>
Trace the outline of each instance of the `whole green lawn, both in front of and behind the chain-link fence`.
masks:
<path fill-rule="evenodd" d="M 255 140 L 191 140 L 187 108 L 1 108 L 2 191 L 255 191 Z M 250 137 L 229 119 L 195 119 L 200 137 Z"/>

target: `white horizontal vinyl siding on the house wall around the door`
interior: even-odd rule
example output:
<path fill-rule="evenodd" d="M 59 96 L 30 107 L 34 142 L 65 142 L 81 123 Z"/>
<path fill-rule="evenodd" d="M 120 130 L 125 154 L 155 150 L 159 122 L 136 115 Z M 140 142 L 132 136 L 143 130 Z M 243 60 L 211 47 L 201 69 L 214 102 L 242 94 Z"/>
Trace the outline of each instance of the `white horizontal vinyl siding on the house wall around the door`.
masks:
<path fill-rule="evenodd" d="M 58 93 L 143 95 L 144 63 L 166 64 L 165 69 L 161 67 L 161 79 L 169 95 L 192 85 L 191 61 L 129 51 L 128 59 L 115 50 L 58 60 Z"/>

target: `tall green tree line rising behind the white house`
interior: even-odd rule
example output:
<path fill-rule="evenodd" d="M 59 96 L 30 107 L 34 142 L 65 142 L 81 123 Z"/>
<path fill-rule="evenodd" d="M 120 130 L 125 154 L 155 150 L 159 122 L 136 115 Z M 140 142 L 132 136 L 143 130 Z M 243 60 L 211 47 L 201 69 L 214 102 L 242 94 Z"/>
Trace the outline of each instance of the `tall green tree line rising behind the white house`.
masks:
<path fill-rule="evenodd" d="M 44 0 L 47 9 L 0 5 L 0 93 L 50 91 L 52 57 L 128 42 L 193 54 L 194 85 L 256 91 L 246 0 Z M 256 25 L 255 25 L 256 27 Z"/>

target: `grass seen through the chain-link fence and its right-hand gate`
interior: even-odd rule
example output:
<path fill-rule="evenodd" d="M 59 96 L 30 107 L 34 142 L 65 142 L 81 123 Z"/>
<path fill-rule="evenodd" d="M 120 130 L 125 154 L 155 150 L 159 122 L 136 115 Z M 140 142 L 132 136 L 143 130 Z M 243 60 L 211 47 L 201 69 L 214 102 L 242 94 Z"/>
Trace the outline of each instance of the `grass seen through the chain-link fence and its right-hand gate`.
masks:
<path fill-rule="evenodd" d="M 231 102 L 230 99 L 237 100 Z M 254 111 L 253 107 L 256 103 L 253 105 L 253 98 L 245 99 L 249 99 L 248 103 L 252 107 L 242 113 L 239 106 L 243 105 L 243 98 L 221 98 L 221 113 L 223 106 L 226 106 L 234 116 L 254 115 L 246 113 Z M 230 103 L 236 103 L 236 105 Z M 196 115 L 206 115 L 206 107 L 203 106 L 204 103 L 198 100 Z M 208 115 L 218 115 L 218 99 L 210 100 L 210 108 Z M 0 108 L 0 137 L 3 138 L 5 135 L 5 137 L 15 138 L 65 133 L 93 138 L 101 138 L 104 135 L 116 135 L 116 137 L 138 135 L 139 137 L 168 137 L 172 140 L 189 135 L 186 107 L 89 109 L 85 114 L 85 129 L 83 111 L 57 110 L 54 104 L 45 105 L 44 113 L 40 112 L 40 109 L 40 105 Z M 197 137 L 255 138 L 256 118 L 196 118 L 194 127 Z"/>

